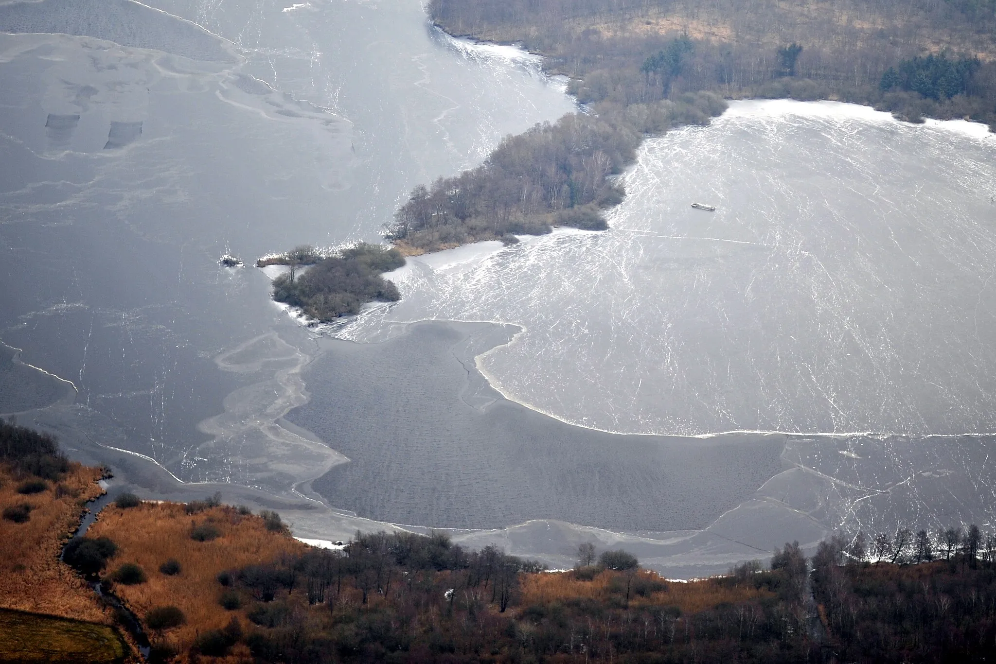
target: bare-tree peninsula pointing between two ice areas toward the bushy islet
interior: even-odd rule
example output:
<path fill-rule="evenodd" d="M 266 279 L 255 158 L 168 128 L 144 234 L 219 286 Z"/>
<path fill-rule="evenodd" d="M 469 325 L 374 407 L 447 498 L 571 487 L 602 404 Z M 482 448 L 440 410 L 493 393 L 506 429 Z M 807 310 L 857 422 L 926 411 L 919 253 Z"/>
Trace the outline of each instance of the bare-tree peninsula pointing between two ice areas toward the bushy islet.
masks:
<path fill-rule="evenodd" d="M 551 225 L 603 230 L 601 210 L 622 202 L 613 176 L 634 159 L 643 133 L 704 124 L 725 109 L 698 93 L 537 124 L 506 137 L 481 166 L 416 187 L 386 237 L 419 254 L 480 240 L 512 244 L 516 234 L 549 233 Z"/>

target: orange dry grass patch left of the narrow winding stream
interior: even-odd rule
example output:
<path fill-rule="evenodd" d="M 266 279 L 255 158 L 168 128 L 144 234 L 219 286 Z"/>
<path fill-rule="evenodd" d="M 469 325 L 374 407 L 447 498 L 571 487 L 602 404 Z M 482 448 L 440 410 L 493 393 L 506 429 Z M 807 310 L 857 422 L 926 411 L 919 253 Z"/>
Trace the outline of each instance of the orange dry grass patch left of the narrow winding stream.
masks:
<path fill-rule="evenodd" d="M 0 510 L 27 503 L 24 524 L 0 521 L 0 607 L 111 623 L 94 591 L 59 560 L 63 542 L 80 525 L 83 503 L 104 493 L 101 471 L 71 464 L 62 482 L 23 496 L 9 466 L 0 464 Z"/>

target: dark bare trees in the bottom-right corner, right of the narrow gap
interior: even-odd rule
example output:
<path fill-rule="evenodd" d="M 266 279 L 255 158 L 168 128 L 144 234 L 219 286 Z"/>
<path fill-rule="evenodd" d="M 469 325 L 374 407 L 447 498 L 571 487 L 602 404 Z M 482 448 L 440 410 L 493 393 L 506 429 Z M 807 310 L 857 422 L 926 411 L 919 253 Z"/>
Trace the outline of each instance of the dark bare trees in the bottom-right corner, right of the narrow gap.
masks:
<path fill-rule="evenodd" d="M 862 561 L 870 556 L 863 538 L 821 543 L 813 589 L 825 649 L 842 662 L 989 661 L 996 652 L 992 542 L 975 526 L 948 529 L 934 543 L 925 531 L 900 529 L 873 539 L 874 563 Z"/>

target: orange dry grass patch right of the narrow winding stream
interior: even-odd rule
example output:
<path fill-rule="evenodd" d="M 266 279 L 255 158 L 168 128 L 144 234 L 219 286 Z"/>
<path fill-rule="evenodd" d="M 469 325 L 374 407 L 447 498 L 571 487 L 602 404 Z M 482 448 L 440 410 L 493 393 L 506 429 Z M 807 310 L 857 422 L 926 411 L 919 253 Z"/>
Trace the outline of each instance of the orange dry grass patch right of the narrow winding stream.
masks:
<path fill-rule="evenodd" d="M 220 537 L 211 542 L 191 540 L 189 534 L 194 522 L 212 524 L 220 531 Z M 143 503 L 127 510 L 110 505 L 101 512 L 88 535 L 111 538 L 118 545 L 109 572 L 124 562 L 137 563 L 145 570 L 146 582 L 119 584 L 114 590 L 139 617 L 154 606 L 172 605 L 183 611 L 186 624 L 166 634 L 180 651 L 180 661 L 184 661 L 198 632 L 220 629 L 233 615 L 239 616 L 243 626 L 246 624 L 244 609 L 226 611 L 218 604 L 223 590 L 216 579 L 218 572 L 307 549 L 287 534 L 267 531 L 261 518 L 241 516 L 227 506 L 186 515 L 183 506 L 174 503 Z M 159 565 L 169 558 L 180 563 L 180 573 L 167 576 L 159 572 Z M 238 661 L 247 654 L 244 646 L 238 646 L 229 659 Z"/>

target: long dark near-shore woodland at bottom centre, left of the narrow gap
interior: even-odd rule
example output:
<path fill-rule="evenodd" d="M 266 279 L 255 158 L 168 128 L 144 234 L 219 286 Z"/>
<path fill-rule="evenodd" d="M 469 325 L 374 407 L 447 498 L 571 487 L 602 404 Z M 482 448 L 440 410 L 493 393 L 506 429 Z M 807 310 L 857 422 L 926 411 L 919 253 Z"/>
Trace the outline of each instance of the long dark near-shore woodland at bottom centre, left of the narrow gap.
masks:
<path fill-rule="evenodd" d="M 358 534 L 342 552 L 219 573 L 205 591 L 232 619 L 201 630 L 190 655 L 244 645 L 257 662 L 771 662 L 813 650 L 798 608 L 806 575 L 798 547 L 779 552 L 770 570 L 676 584 L 629 553 L 582 555 L 575 570 L 546 573 L 443 534 Z M 167 610 L 176 609 L 157 607 L 152 617 Z M 168 627 L 156 624 L 156 652 L 175 652 Z"/>

